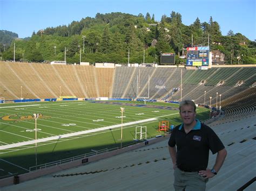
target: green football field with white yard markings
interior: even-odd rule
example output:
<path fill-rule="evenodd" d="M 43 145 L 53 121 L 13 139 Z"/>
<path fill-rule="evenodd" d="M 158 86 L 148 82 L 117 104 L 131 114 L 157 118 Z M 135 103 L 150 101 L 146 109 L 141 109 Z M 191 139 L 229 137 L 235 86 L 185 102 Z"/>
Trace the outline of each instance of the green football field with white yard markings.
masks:
<path fill-rule="evenodd" d="M 208 116 L 209 110 L 197 108 L 200 120 Z M 146 126 L 149 139 L 164 134 L 158 131 L 160 121 L 181 122 L 178 104 L 122 101 L 1 104 L 0 117 L 1 179 L 27 173 L 36 164 L 134 144 L 136 126 Z"/>

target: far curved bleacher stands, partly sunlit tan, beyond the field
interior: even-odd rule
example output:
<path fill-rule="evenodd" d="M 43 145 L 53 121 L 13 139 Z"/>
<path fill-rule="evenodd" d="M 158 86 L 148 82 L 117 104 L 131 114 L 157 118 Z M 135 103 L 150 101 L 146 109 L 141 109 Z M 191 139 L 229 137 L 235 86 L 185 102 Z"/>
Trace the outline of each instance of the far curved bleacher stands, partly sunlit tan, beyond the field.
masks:
<path fill-rule="evenodd" d="M 132 98 L 148 96 L 150 75 L 150 99 L 180 101 L 180 72 L 183 74 L 183 99 L 191 98 L 197 103 L 212 106 L 216 93 L 221 100 L 250 88 L 255 82 L 256 68 L 211 68 L 208 70 L 186 70 L 185 68 L 116 67 L 95 68 L 94 66 L 47 65 L 42 63 L 0 62 L 1 97 L 8 99 L 53 98 L 58 96 Z M 204 80 L 205 83 L 199 83 Z M 223 80 L 222 86 L 217 83 Z M 33 83 L 31 83 L 31 81 Z M 235 87 L 237 81 L 243 81 Z M 60 88 L 61 87 L 61 88 Z M 173 88 L 179 88 L 173 92 Z M 60 92 L 61 91 L 61 92 Z M 219 99 L 218 99 L 219 100 Z"/>

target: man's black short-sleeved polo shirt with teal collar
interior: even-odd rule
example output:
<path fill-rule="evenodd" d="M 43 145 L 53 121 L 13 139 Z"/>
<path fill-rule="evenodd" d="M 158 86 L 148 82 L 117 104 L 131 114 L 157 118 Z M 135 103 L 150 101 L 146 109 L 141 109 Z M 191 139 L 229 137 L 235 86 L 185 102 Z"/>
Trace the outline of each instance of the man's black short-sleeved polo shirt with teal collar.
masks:
<path fill-rule="evenodd" d="M 183 171 L 196 172 L 208 166 L 209 150 L 212 154 L 223 150 L 225 146 L 216 133 L 198 119 L 194 128 L 186 134 L 183 124 L 173 129 L 169 146 L 177 145 L 177 166 Z"/>

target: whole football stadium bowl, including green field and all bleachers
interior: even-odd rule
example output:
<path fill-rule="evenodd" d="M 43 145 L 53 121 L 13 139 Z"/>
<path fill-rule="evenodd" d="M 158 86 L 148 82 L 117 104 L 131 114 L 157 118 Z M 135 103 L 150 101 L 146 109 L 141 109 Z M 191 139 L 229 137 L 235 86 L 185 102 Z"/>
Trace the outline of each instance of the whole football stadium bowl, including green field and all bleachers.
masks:
<path fill-rule="evenodd" d="M 256 188 L 255 65 L 0 68 L 1 190 L 170 190 L 183 100 L 228 153 L 207 190 Z"/>

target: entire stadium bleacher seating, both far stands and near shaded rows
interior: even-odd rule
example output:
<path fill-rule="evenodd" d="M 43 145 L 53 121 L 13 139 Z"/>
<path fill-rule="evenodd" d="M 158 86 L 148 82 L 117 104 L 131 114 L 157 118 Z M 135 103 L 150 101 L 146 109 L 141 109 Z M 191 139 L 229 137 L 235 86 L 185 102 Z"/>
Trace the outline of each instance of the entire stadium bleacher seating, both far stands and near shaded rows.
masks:
<path fill-rule="evenodd" d="M 228 156 L 218 176 L 207 183 L 207 190 L 237 190 L 255 176 L 256 68 L 185 68 L 117 67 L 45 65 L 41 63 L 0 62 L 0 97 L 8 99 L 76 97 L 136 97 L 137 75 L 140 74 L 139 96 L 147 96 L 150 75 L 150 98 L 180 101 L 180 73 L 183 73 L 183 99 L 215 106 L 216 93 L 221 94 L 225 116 L 209 122 L 223 140 Z M 205 84 L 200 85 L 200 81 Z M 224 80 L 223 86 L 217 86 Z M 243 81 L 236 87 L 238 81 Z M 158 86 L 158 87 L 156 87 Z M 21 88 L 22 87 L 22 88 Z M 61 87 L 61 88 L 60 88 Z M 165 87 L 165 88 L 163 88 Z M 177 91 L 173 91 L 177 88 Z M 21 92 L 22 91 L 22 92 Z M 21 95 L 22 94 L 22 95 Z M 144 102 L 143 98 L 137 101 Z M 219 105 L 219 103 L 218 103 Z M 207 122 L 206 122 L 207 123 Z M 215 155 L 210 155 L 210 165 Z M 239 173 L 237 173 L 239 172 Z M 167 150 L 167 139 L 156 144 L 99 160 L 84 166 L 45 175 L 1 190 L 173 190 L 173 169 Z M 242 175 L 241 175 L 242 174 Z M 255 190 L 248 187 L 248 190 Z"/>

